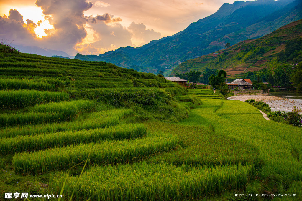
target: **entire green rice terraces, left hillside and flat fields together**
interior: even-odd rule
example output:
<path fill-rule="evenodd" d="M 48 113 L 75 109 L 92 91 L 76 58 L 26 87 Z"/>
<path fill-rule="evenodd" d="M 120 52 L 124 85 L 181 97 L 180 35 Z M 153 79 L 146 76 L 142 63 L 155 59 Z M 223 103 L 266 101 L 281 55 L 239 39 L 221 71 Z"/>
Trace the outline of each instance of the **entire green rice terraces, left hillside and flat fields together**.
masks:
<path fill-rule="evenodd" d="M 111 63 L 0 52 L 0 138 L 0 200 L 302 199 L 301 128 Z"/>

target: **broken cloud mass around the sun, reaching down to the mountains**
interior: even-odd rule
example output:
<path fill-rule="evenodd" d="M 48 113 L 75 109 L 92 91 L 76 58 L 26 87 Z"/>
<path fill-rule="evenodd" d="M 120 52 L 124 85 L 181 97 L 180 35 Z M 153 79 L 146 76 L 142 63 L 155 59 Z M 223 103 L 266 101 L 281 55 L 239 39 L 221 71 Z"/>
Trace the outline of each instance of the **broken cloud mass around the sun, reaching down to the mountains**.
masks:
<path fill-rule="evenodd" d="M 8 17 L 0 17 L 1 38 L 14 40 L 16 45 L 62 50 L 75 55 L 77 52 L 99 54 L 119 47 L 140 46 L 161 36 L 143 23 L 123 26 L 121 17 L 109 13 L 85 16 L 84 11 L 92 8 L 92 2 L 86 0 L 37 0 L 36 5 L 53 28 L 44 28 L 42 20 L 27 19 L 25 24 L 22 13 L 11 9 Z M 34 32 L 37 28 L 40 34 L 44 31 L 47 36 L 41 34 L 43 37 L 37 38 Z"/>

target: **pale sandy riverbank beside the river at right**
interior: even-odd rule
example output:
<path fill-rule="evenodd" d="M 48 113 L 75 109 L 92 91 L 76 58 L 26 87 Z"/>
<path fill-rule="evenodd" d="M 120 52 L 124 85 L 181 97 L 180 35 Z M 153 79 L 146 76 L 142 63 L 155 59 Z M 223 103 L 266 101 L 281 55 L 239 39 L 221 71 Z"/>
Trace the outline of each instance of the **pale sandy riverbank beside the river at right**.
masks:
<path fill-rule="evenodd" d="M 278 96 L 265 96 L 263 94 L 258 96 L 236 95 L 231 96 L 230 99 L 240 101 L 255 99 L 256 101 L 263 101 L 271 107 L 271 111 L 292 111 L 294 106 L 302 108 L 302 99 L 287 99 Z"/>

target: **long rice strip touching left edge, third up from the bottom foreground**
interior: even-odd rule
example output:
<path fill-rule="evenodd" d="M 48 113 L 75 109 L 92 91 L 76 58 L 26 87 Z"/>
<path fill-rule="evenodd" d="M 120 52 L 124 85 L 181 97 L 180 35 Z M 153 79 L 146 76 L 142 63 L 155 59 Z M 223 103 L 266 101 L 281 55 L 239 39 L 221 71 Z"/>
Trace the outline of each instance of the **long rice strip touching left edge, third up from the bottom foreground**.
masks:
<path fill-rule="evenodd" d="M 76 144 L 97 143 L 102 140 L 134 139 L 145 134 L 146 127 L 141 124 L 119 124 L 108 128 L 20 136 L 1 140 L 0 153 L 14 154 Z"/>

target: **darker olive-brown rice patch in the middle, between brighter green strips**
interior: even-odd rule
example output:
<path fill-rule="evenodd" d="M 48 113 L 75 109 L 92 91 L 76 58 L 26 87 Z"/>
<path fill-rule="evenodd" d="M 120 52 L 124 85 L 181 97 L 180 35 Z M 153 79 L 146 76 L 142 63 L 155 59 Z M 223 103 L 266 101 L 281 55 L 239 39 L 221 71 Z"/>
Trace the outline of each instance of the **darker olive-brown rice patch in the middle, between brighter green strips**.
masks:
<path fill-rule="evenodd" d="M 162 130 L 177 135 L 180 147 L 173 152 L 163 153 L 148 159 L 148 162 L 193 166 L 254 164 L 259 168 L 263 161 L 254 146 L 234 138 L 217 135 L 208 120 L 199 120 L 193 112 L 190 118 L 178 124 L 160 122 L 145 123 L 148 130 Z M 195 120 L 196 119 L 196 120 Z"/>

